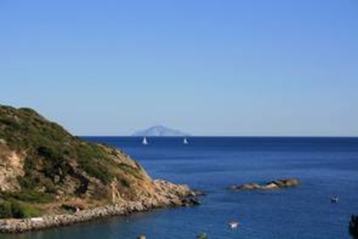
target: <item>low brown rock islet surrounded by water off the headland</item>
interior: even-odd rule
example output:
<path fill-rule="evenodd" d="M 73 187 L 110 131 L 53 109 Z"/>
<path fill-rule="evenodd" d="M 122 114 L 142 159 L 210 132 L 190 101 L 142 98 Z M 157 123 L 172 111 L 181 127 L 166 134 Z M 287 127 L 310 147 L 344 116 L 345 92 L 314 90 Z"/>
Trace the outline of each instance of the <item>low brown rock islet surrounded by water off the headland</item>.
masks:
<path fill-rule="evenodd" d="M 294 187 L 299 184 L 298 179 L 296 178 L 284 178 L 284 179 L 277 179 L 274 181 L 266 182 L 265 184 L 258 184 L 258 183 L 245 183 L 234 185 L 231 188 L 233 190 L 277 190 L 283 189 L 288 187 Z"/>

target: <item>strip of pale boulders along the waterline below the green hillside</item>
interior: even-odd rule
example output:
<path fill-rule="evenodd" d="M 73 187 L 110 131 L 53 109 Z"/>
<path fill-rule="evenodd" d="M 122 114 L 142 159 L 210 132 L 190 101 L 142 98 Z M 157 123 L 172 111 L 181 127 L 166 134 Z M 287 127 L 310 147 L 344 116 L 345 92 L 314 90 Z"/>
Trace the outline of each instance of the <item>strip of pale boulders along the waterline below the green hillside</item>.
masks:
<path fill-rule="evenodd" d="M 170 201 L 168 204 L 161 205 L 150 205 L 142 202 L 125 202 L 85 209 L 73 214 L 46 215 L 39 218 L 28 219 L 5 219 L 0 220 L 0 233 L 23 233 L 68 226 L 113 216 L 126 216 L 161 207 L 191 206 L 198 204 L 200 204 L 198 197 L 196 195 L 189 195 L 180 201 Z"/>

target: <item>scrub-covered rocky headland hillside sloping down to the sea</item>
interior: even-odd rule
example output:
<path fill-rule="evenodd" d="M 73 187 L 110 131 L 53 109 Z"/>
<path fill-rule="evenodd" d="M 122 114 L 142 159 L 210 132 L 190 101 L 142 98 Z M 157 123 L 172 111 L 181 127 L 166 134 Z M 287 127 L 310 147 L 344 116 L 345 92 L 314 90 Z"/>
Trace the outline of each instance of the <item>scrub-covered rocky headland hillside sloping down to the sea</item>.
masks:
<path fill-rule="evenodd" d="M 64 205 L 174 205 L 190 193 L 152 180 L 123 152 L 84 142 L 31 109 L 0 105 L 0 218 L 59 213 Z"/>

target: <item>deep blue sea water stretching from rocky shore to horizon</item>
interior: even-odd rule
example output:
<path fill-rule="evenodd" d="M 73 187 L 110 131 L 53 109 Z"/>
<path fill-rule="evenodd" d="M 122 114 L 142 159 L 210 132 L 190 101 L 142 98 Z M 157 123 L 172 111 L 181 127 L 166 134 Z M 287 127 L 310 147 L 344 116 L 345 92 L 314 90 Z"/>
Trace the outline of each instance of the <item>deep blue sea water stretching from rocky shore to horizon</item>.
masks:
<path fill-rule="evenodd" d="M 4 239 L 350 238 L 358 214 L 358 138 L 147 138 L 85 137 L 124 150 L 153 178 L 208 192 L 200 206 L 158 209 L 130 217 L 49 229 Z M 280 191 L 233 192 L 230 185 L 296 177 L 301 185 Z M 339 203 L 330 203 L 331 195 Z M 238 220 L 241 227 L 229 229 Z"/>

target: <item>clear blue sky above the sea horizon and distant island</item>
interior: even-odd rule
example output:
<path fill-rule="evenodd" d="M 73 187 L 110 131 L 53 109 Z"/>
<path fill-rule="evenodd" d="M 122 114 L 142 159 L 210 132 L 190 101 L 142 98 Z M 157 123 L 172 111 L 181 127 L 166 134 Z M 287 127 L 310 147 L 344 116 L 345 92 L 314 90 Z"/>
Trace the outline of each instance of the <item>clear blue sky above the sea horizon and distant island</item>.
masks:
<path fill-rule="evenodd" d="M 358 1 L 2 0 L 0 104 L 75 135 L 358 136 Z"/>

